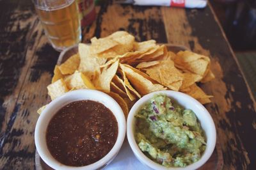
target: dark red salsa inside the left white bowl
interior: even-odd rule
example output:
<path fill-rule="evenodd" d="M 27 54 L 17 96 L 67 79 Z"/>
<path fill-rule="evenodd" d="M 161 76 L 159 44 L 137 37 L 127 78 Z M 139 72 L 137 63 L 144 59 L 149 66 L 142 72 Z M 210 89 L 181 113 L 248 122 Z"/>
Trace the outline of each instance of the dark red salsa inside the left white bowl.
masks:
<path fill-rule="evenodd" d="M 103 104 L 80 100 L 62 107 L 50 121 L 46 142 L 51 155 L 67 166 L 86 166 L 113 148 L 118 125 Z"/>

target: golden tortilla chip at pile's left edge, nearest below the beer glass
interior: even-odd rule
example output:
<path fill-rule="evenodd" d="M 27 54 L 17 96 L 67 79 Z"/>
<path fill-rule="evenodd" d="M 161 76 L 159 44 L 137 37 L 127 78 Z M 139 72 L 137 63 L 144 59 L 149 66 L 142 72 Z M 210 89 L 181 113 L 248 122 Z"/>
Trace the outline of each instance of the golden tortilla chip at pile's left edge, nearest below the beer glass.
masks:
<path fill-rule="evenodd" d="M 80 63 L 79 54 L 74 54 L 70 58 L 68 58 L 63 64 L 59 66 L 60 71 L 63 75 L 74 73 Z"/>

